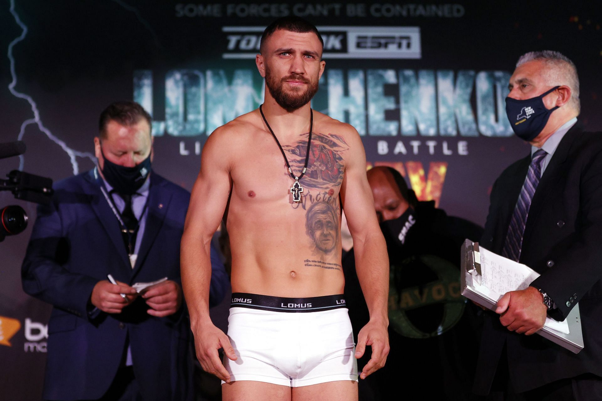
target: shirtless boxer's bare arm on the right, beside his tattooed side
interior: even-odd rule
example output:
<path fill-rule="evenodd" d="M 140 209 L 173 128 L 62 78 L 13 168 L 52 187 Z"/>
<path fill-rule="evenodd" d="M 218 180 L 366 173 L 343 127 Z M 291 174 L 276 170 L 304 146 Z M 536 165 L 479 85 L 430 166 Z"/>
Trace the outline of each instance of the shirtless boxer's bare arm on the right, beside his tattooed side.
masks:
<path fill-rule="evenodd" d="M 374 212 L 372 191 L 366 178 L 364 146 L 355 129 L 350 126 L 349 129 L 353 132 L 347 135 L 350 153 L 341 185 L 341 204 L 353 237 L 359 284 L 370 311 L 370 322 L 359 332 L 356 347 L 356 358 L 364 355 L 365 346 L 372 347 L 371 359 L 360 375 L 365 379 L 385 365 L 389 353 L 389 260 L 385 238 Z"/>

